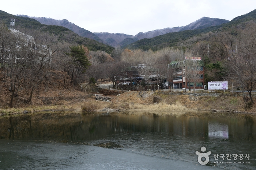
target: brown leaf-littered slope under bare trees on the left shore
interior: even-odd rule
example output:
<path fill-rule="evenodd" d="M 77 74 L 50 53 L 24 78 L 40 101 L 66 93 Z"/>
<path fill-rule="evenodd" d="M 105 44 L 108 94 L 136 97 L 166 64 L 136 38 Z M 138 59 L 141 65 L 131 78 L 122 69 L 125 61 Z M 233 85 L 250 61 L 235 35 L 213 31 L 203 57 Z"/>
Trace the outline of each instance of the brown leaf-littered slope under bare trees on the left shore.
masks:
<path fill-rule="evenodd" d="M 66 77 L 66 84 L 64 84 L 64 76 Z M 49 79 L 39 84 L 37 90 L 35 90 L 35 97 L 32 99 L 31 103 L 25 102 L 29 97 L 31 87 L 26 84 L 20 87 L 18 94 L 14 97 L 13 107 L 64 105 L 67 104 L 67 102 L 82 102 L 89 97 L 88 94 L 76 91 L 70 83 L 67 83 L 69 81 L 70 78 L 65 72 L 52 70 Z M 10 79 L 4 76 L 4 70 L 0 70 L 0 108 L 5 108 L 10 103 L 12 92 L 9 91 L 9 87 Z"/>

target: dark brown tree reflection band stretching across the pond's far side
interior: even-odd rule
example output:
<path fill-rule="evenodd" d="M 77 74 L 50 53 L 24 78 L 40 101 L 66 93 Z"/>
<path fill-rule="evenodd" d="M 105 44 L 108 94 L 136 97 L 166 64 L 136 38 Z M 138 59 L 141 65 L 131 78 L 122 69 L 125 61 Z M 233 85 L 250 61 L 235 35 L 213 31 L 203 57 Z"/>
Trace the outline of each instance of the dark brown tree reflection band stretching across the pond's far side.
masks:
<path fill-rule="evenodd" d="M 64 141 L 102 139 L 122 133 L 169 133 L 185 137 L 208 137 L 208 122 L 218 122 L 228 126 L 229 138 L 253 140 L 253 133 L 256 131 L 254 120 L 251 116 L 230 115 L 38 113 L 0 119 L 0 137 Z"/>

